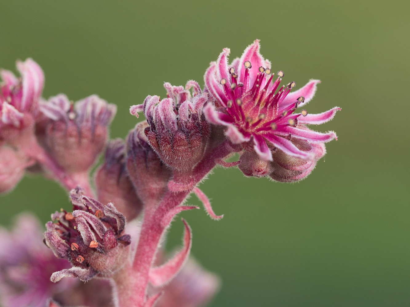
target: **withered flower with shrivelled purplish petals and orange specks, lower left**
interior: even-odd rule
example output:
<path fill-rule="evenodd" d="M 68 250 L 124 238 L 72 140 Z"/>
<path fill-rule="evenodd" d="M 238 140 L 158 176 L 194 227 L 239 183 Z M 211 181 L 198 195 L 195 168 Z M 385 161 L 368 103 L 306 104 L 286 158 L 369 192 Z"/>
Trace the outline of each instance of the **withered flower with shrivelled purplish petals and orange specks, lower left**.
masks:
<path fill-rule="evenodd" d="M 128 257 L 130 236 L 123 234 L 125 217 L 112 203 L 103 205 L 84 196 L 80 188 L 73 189 L 70 198 L 74 211 L 52 214 L 56 223 L 46 224 L 44 237 L 54 255 L 69 260 L 73 267 L 53 273 L 51 280 L 112 276 Z"/>

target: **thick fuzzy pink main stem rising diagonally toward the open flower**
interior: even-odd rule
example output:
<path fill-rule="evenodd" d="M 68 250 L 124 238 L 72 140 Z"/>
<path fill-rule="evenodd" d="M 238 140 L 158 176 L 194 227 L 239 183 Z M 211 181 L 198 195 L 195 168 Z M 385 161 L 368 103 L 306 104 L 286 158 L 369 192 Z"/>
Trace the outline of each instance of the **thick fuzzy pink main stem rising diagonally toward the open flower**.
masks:
<path fill-rule="evenodd" d="M 198 184 L 216 165 L 215 158 L 223 158 L 232 152 L 232 147 L 224 142 L 220 146 L 209 150 L 204 158 L 196 165 L 193 172 L 193 187 Z M 156 208 L 149 206 L 148 209 L 152 214 L 144 214 L 141 234 L 137 246 L 132 269 L 128 268 L 117 274 L 114 282 L 117 283 L 116 291 L 119 297 L 118 307 L 143 307 L 146 302 L 146 289 L 148 286 L 149 271 L 154 261 L 155 253 L 159 241 L 167 228 L 161 225 L 162 219 L 169 210 L 180 205 L 184 199 L 191 193 L 183 192 L 166 192 L 162 201 Z M 152 210 L 152 211 L 151 211 Z M 121 280 L 123 278 L 123 280 Z"/>

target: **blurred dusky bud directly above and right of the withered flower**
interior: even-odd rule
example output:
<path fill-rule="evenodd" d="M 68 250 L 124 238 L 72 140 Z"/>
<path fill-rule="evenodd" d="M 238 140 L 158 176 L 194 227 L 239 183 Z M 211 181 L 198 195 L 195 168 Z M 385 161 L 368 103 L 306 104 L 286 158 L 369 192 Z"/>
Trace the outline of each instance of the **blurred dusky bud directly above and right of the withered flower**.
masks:
<path fill-rule="evenodd" d="M 104 164 L 96 172 L 98 199 L 102 203 L 114 203 L 128 221 L 138 216 L 141 200 L 134 190 L 126 169 L 125 144 L 121 139 L 108 143 Z"/>

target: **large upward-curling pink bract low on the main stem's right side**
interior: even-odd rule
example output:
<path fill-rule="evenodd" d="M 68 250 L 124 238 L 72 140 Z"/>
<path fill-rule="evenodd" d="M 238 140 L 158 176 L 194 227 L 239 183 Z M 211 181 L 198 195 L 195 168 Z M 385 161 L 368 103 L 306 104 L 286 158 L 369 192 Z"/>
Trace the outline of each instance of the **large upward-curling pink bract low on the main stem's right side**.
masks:
<path fill-rule="evenodd" d="M 184 247 L 178 254 L 175 255 L 175 257 L 166 262 L 166 264 L 150 269 L 150 283 L 154 287 L 161 287 L 174 278 L 188 259 L 189 251 L 191 250 L 192 245 L 192 233 L 187 222 L 184 219 L 182 219 L 182 221 L 185 225 L 183 239 Z"/>

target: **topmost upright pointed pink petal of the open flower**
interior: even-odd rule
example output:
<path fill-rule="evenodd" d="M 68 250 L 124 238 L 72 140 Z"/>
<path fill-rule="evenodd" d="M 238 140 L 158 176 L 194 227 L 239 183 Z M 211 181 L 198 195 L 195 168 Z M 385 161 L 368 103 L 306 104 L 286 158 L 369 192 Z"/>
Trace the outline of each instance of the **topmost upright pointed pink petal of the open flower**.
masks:
<path fill-rule="evenodd" d="M 260 43 L 258 39 L 255 39 L 255 41 L 246 47 L 244 53 L 241 56 L 241 59 L 239 60 L 239 68 L 238 68 L 238 75 L 239 75 L 239 80 L 241 82 L 244 81 L 245 79 L 245 67 L 244 63 L 246 61 L 250 61 L 252 67 L 249 69 L 249 85 L 253 86 L 253 83 L 256 80 L 256 76 L 259 72 L 260 66 L 264 68 L 271 68 L 266 67 L 267 65 L 270 65 L 269 61 L 265 61 L 263 56 L 259 52 L 260 50 Z"/>

